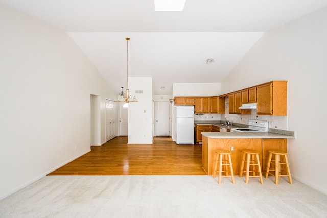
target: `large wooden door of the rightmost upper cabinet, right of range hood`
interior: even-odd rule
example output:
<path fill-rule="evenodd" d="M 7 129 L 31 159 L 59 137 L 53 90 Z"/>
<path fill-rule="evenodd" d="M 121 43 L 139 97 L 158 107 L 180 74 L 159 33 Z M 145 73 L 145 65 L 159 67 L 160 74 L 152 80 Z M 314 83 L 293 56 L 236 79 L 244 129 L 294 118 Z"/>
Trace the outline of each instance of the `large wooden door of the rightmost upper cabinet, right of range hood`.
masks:
<path fill-rule="evenodd" d="M 257 114 L 272 115 L 272 83 L 267 83 L 257 87 Z"/>

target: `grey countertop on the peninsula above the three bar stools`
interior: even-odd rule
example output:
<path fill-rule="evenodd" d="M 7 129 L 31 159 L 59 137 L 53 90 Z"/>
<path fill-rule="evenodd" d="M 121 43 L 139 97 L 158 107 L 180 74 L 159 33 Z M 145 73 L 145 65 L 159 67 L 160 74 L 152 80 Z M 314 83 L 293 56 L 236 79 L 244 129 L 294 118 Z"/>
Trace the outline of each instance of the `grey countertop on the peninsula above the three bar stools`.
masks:
<path fill-rule="evenodd" d="M 273 132 L 201 132 L 207 138 L 295 138 Z"/>

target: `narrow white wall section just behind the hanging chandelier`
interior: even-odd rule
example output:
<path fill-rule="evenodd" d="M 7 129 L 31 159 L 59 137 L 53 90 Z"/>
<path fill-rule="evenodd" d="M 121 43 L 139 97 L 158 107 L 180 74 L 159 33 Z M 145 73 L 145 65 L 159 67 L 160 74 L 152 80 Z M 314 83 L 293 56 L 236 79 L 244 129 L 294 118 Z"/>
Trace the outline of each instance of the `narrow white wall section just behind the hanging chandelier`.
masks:
<path fill-rule="evenodd" d="M 129 77 L 128 88 L 138 100 L 128 104 L 128 144 L 152 144 L 152 77 Z M 143 93 L 135 94 L 135 90 L 142 90 Z"/>

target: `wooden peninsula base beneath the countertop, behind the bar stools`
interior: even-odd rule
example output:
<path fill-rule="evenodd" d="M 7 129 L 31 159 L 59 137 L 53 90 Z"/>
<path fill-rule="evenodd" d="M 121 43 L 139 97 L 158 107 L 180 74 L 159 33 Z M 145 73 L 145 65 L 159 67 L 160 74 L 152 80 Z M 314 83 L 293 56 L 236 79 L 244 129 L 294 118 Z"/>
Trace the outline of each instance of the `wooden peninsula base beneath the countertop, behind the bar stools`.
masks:
<path fill-rule="evenodd" d="M 217 149 L 231 150 L 231 162 L 235 175 L 240 174 L 242 150 L 252 149 L 259 151 L 261 169 L 265 169 L 268 160 L 268 150 L 287 150 L 287 139 L 261 138 L 208 138 L 202 137 L 202 164 L 205 172 L 212 175 L 214 153 Z M 265 174 L 265 171 L 262 171 Z"/>

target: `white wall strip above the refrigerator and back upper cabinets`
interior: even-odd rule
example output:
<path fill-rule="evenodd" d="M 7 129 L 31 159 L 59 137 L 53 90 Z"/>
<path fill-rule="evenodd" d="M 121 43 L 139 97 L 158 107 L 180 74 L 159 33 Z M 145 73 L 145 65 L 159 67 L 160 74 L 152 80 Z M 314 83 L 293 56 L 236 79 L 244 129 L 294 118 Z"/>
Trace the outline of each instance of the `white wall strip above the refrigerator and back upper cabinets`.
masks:
<path fill-rule="evenodd" d="M 174 83 L 173 96 L 218 96 L 220 83 Z"/>

